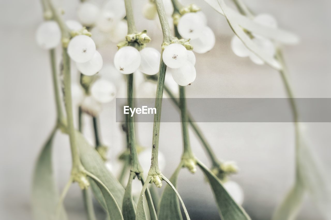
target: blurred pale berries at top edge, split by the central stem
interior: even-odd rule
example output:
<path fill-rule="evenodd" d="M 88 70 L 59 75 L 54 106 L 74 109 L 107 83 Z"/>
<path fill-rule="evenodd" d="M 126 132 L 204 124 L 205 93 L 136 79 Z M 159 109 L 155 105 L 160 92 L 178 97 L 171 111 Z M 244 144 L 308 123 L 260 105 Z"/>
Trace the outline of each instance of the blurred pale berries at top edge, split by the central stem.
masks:
<path fill-rule="evenodd" d="M 163 5 L 165 7 L 166 17 L 168 20 L 168 23 L 170 24 L 170 28 L 173 29 L 173 5 L 171 3 L 171 0 L 163 0 Z M 143 7 L 143 15 L 148 20 L 155 20 L 157 26 L 162 30 L 160 19 L 156 10 L 156 5 L 153 0 L 147 0 L 146 4 Z"/>

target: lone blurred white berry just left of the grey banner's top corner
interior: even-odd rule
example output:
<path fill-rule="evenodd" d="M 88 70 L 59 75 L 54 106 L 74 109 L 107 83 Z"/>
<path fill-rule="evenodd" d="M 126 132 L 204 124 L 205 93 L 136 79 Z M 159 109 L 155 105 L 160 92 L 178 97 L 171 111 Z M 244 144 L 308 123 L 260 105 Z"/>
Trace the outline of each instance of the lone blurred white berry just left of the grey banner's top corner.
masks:
<path fill-rule="evenodd" d="M 112 101 L 116 96 L 116 86 L 114 83 L 104 79 L 98 79 L 91 86 L 92 97 L 100 103 Z"/>

